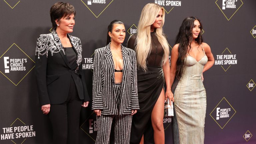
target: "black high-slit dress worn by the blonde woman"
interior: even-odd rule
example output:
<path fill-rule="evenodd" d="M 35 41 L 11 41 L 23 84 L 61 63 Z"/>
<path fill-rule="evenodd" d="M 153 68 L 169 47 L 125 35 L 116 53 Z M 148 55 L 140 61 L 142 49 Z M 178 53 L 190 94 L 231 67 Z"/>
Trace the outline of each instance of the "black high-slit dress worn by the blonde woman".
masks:
<path fill-rule="evenodd" d="M 137 69 L 138 98 L 140 110 L 133 115 L 131 128 L 131 144 L 144 141 L 154 143 L 154 131 L 151 124 L 151 113 L 164 87 L 163 57 L 164 49 L 155 32 L 151 32 L 151 51 L 147 57 L 147 70 Z M 127 47 L 135 50 L 136 34 L 130 36 Z M 138 55 L 137 55 L 138 56 Z"/>

